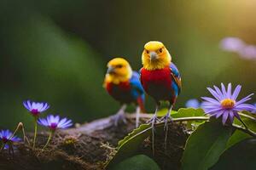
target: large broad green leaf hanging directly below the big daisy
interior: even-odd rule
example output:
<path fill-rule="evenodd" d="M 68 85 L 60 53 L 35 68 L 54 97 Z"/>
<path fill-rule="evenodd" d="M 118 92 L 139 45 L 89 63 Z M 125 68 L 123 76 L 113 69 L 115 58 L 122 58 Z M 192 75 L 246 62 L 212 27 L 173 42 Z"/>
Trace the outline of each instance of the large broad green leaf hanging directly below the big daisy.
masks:
<path fill-rule="evenodd" d="M 182 158 L 182 169 L 205 170 L 218 161 L 232 134 L 230 127 L 224 127 L 214 120 L 201 124 L 189 136 Z"/>

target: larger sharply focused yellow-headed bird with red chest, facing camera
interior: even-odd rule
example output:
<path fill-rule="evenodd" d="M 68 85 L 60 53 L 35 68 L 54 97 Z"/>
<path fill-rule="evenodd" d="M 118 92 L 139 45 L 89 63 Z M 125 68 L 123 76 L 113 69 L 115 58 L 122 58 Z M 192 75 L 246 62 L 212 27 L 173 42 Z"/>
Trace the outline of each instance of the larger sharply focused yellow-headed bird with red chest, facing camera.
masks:
<path fill-rule="evenodd" d="M 148 42 L 143 50 L 143 68 L 141 69 L 140 80 L 145 92 L 151 96 L 156 103 L 154 116 L 149 120 L 154 129 L 154 123 L 160 120 L 165 122 L 167 130 L 168 119 L 171 119 L 172 107 L 176 102 L 177 95 L 181 91 L 181 76 L 176 65 L 172 63 L 171 54 L 162 42 Z M 157 111 L 160 101 L 168 101 L 169 108 L 166 116 L 160 120 L 157 118 Z"/>

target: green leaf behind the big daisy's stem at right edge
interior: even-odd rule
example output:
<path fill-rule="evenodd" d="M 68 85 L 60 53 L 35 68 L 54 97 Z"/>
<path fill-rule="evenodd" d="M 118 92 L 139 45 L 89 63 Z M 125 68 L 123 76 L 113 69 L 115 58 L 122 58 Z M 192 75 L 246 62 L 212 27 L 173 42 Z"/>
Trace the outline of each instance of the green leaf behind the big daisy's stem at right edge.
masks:
<path fill-rule="evenodd" d="M 252 119 L 248 119 L 246 117 L 242 117 L 242 116 L 241 116 L 241 119 L 243 122 L 246 123 L 246 125 L 249 129 L 256 132 L 256 122 L 255 121 L 253 121 Z M 238 125 L 241 125 L 241 122 L 239 122 L 237 119 L 235 120 L 235 123 Z M 235 133 L 233 133 L 232 136 L 230 137 L 228 144 L 227 144 L 227 148 L 229 148 L 233 144 L 240 142 L 243 139 L 247 139 L 250 137 L 252 137 L 252 136 L 247 133 L 241 132 L 241 130 L 236 130 Z"/>

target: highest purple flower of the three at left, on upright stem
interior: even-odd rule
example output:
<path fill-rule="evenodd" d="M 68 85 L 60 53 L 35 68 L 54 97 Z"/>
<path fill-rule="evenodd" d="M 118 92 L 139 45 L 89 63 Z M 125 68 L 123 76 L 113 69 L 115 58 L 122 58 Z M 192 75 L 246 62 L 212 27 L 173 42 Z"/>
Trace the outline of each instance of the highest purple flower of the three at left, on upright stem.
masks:
<path fill-rule="evenodd" d="M 45 102 L 37 103 L 26 100 L 23 102 L 23 105 L 32 113 L 32 116 L 38 116 L 41 112 L 49 109 L 49 104 Z"/>

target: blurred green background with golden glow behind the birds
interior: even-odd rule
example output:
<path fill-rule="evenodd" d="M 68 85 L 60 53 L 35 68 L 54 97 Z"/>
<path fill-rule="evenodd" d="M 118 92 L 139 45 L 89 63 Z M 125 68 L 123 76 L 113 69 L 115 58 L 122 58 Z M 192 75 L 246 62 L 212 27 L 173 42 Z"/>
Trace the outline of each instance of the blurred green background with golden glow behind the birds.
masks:
<path fill-rule="evenodd" d="M 106 64 L 124 56 L 139 70 L 149 40 L 165 43 L 182 74 L 176 109 L 220 82 L 253 93 L 255 60 L 222 51 L 219 41 L 256 44 L 255 7 L 253 0 L 2 0 L 0 127 L 32 127 L 24 99 L 47 101 L 48 113 L 74 122 L 115 113 L 119 104 L 102 88 Z M 148 98 L 147 111 L 154 111 Z"/>

